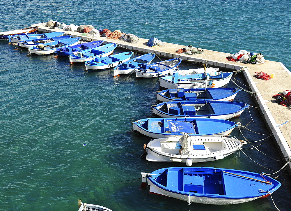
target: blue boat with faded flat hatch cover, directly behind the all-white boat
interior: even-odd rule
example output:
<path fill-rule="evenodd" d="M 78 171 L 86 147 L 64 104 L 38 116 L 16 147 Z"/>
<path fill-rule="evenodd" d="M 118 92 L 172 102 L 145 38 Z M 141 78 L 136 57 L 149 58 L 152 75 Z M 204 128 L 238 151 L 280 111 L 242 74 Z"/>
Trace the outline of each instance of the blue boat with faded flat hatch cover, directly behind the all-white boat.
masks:
<path fill-rule="evenodd" d="M 132 130 L 151 138 L 228 136 L 238 123 L 225 119 L 148 118 L 132 121 Z"/>

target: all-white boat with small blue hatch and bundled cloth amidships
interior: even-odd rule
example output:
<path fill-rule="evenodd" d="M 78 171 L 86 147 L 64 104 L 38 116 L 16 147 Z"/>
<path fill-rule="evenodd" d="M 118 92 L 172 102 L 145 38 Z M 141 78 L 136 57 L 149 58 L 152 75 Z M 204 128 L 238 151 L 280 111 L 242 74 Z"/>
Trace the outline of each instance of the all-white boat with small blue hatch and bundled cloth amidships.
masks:
<path fill-rule="evenodd" d="M 154 162 L 181 162 L 191 166 L 223 159 L 233 154 L 246 142 L 235 137 L 175 136 L 151 140 L 145 147 L 146 159 Z"/>

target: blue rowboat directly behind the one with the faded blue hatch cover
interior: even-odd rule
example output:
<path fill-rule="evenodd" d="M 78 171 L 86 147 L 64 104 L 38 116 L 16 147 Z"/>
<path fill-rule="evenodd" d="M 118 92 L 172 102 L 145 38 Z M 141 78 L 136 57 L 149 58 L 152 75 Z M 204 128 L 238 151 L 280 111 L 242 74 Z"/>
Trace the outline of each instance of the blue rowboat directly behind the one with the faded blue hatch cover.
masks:
<path fill-rule="evenodd" d="M 152 105 L 152 114 L 163 118 L 230 119 L 239 117 L 247 103 L 228 101 L 171 101 Z"/>

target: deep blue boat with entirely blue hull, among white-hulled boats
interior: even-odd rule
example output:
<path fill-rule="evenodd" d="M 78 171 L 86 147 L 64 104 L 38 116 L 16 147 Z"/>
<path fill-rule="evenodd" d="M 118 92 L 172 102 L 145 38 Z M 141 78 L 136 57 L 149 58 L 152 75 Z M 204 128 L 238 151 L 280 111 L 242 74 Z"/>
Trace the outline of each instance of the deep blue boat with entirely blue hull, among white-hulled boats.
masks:
<path fill-rule="evenodd" d="M 82 43 L 82 44 L 78 44 L 78 45 L 69 46 L 66 48 L 60 48 L 60 49 L 56 50 L 55 53 L 57 56 L 68 57 L 71 54 L 73 54 L 74 52 L 80 52 L 82 50 L 99 47 L 102 43 L 103 43 L 102 40 Z"/>

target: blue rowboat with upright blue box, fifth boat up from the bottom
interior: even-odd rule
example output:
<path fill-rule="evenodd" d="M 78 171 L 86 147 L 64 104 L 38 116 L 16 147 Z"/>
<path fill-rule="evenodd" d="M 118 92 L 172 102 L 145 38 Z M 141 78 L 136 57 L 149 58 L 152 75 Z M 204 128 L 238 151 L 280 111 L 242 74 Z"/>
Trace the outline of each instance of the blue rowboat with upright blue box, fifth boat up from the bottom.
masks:
<path fill-rule="evenodd" d="M 157 101 L 233 101 L 240 89 L 236 88 L 202 88 L 184 89 L 179 86 L 177 89 L 166 89 L 157 92 Z"/>

